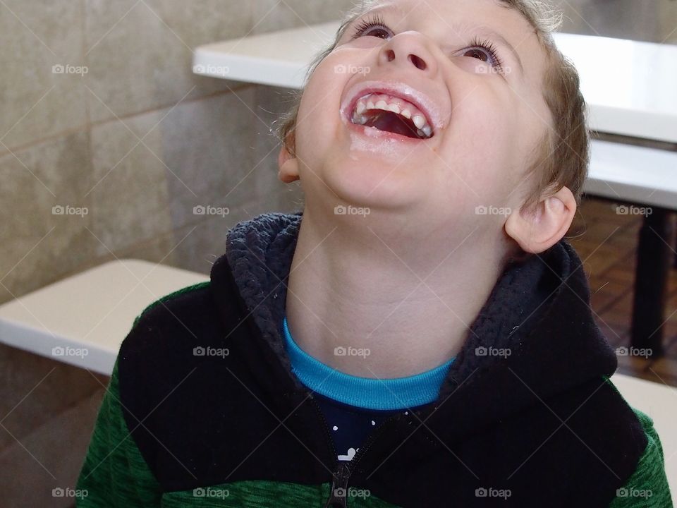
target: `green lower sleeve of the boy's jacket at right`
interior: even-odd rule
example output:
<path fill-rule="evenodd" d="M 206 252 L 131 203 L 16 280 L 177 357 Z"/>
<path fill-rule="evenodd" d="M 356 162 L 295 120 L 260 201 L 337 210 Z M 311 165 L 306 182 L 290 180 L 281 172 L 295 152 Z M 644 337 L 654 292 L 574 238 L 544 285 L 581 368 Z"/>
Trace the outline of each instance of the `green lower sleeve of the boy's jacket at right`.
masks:
<path fill-rule="evenodd" d="M 633 408 L 647 435 L 647 447 L 640 457 L 635 472 L 623 487 L 616 490 L 616 497 L 609 508 L 673 508 L 670 488 L 665 475 L 663 447 L 654 429 L 654 421 Z"/>

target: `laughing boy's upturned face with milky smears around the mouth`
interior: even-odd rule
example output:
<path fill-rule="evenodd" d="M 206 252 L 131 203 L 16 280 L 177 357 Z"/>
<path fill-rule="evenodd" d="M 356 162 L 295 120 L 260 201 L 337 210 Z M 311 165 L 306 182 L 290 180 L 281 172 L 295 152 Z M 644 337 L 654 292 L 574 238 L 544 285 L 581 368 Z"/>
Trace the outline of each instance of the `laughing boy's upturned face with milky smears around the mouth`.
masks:
<path fill-rule="evenodd" d="M 382 25 L 355 37 L 374 18 Z M 372 214 L 404 212 L 456 226 L 457 234 L 477 225 L 496 234 L 506 219 L 498 209 L 520 206 L 530 150 L 551 123 L 545 66 L 531 25 L 498 0 L 377 2 L 348 26 L 303 93 L 295 147 L 306 203 L 333 207 L 338 195 Z M 392 133 L 405 125 L 394 112 L 379 119 L 367 111 L 357 117 L 366 125 L 353 123 L 355 99 L 388 83 L 414 91 L 432 137 Z M 403 93 L 389 95 L 410 97 Z"/>

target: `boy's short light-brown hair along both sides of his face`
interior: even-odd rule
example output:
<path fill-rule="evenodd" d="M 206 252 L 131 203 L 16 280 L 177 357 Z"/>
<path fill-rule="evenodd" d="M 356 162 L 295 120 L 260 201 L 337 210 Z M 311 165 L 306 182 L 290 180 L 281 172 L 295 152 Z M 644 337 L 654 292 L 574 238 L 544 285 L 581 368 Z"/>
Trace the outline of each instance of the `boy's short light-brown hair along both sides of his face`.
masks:
<path fill-rule="evenodd" d="M 535 205 L 540 199 L 569 188 L 580 204 L 583 183 L 590 161 L 590 137 L 587 132 L 585 100 L 580 92 L 578 71 L 566 56 L 557 49 L 552 32 L 561 24 L 561 12 L 542 0 L 496 0 L 506 8 L 513 8 L 534 29 L 546 54 L 546 70 L 543 76 L 543 99 L 551 114 L 552 128 L 546 132 L 532 150 L 530 164 L 525 176 L 534 180 L 527 193 L 525 207 Z M 336 48 L 348 25 L 362 16 L 374 0 L 364 0 L 361 6 L 346 13 L 336 32 L 331 46 L 319 52 L 310 63 L 306 75 L 310 79 L 315 68 Z M 277 135 L 285 149 L 295 156 L 295 127 L 303 90 L 295 97 L 295 104 L 281 118 Z"/>

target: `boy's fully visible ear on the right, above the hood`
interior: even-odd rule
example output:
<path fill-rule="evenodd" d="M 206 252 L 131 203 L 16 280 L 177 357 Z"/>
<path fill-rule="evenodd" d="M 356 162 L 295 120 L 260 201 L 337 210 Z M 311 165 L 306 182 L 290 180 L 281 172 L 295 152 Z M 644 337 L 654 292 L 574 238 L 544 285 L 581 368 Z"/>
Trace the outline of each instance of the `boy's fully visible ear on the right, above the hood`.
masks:
<path fill-rule="evenodd" d="M 516 210 L 506 221 L 506 233 L 527 253 L 542 253 L 568 231 L 576 213 L 573 193 L 562 187 L 529 210 Z"/>

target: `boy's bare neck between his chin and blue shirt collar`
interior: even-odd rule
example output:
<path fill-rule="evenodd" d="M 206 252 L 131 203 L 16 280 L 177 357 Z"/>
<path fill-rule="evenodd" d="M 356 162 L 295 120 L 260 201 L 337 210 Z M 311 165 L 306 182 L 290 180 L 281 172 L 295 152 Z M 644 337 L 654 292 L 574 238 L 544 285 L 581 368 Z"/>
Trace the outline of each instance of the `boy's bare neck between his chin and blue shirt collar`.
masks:
<path fill-rule="evenodd" d="M 288 329 L 303 351 L 383 379 L 456 356 L 501 274 L 504 245 L 477 231 L 443 236 L 457 228 L 408 224 L 305 208 L 286 297 Z"/>

